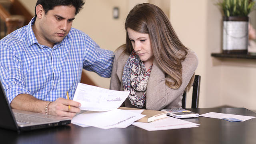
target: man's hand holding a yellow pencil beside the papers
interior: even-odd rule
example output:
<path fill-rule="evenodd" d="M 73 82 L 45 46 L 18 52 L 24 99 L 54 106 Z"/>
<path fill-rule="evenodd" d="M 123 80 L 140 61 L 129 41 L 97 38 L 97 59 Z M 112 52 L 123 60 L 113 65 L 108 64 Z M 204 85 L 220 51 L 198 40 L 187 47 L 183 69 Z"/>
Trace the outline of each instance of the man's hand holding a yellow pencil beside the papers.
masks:
<path fill-rule="evenodd" d="M 69 105 L 70 110 L 68 109 Z M 77 112 L 80 112 L 80 106 L 81 104 L 79 102 L 58 98 L 56 101 L 49 104 L 48 110 L 50 115 L 73 118 Z"/>

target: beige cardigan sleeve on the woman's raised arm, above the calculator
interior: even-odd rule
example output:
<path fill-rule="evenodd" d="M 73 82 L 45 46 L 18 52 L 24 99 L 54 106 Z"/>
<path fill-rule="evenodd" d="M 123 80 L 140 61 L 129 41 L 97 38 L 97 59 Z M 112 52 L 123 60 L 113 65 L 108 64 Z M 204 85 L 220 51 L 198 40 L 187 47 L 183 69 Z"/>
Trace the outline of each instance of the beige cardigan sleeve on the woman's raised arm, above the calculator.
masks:
<path fill-rule="evenodd" d="M 161 70 L 156 61 L 154 61 L 153 66 L 158 68 L 154 68 L 153 70 L 152 67 L 152 71 L 150 73 L 147 86 L 146 109 L 161 110 L 169 104 L 176 106 L 178 104 L 174 104 L 173 102 L 177 99 L 181 104 L 181 98 L 179 99 L 178 97 L 182 96 L 188 82 L 198 66 L 198 58 L 196 54 L 194 52 L 190 52 L 182 62 L 182 84 L 178 89 L 169 88 L 165 84 L 166 74 Z"/>

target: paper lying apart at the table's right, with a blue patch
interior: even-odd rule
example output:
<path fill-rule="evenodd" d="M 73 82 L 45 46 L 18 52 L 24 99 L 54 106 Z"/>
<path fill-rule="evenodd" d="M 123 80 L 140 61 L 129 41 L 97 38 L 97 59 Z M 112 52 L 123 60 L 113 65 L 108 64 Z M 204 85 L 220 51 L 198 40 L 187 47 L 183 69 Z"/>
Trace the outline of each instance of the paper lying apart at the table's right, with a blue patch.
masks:
<path fill-rule="evenodd" d="M 201 114 L 199 116 L 204 116 L 208 118 L 236 118 L 241 120 L 241 122 L 244 122 L 246 120 L 250 120 L 252 118 L 256 118 L 255 116 L 242 116 L 242 115 L 236 115 L 236 114 L 223 114 L 223 113 L 218 113 L 218 112 L 208 112 L 206 114 Z"/>

